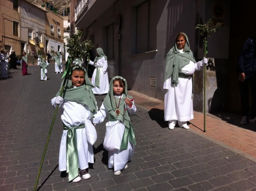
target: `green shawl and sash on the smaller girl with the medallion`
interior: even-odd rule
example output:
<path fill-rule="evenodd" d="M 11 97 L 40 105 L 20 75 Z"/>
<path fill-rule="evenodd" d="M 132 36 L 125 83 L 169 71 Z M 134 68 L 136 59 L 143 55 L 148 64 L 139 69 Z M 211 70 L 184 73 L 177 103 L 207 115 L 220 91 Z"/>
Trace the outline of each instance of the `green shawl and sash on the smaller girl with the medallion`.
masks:
<path fill-rule="evenodd" d="M 116 78 L 120 78 L 125 82 L 125 89 L 123 91 L 123 96 L 122 96 L 122 98 L 120 98 L 121 99 L 120 105 L 119 105 L 120 115 L 118 115 L 118 116 L 115 114 L 115 110 L 117 109 L 116 103 L 119 103 L 119 98 L 114 97 L 114 91 L 113 91 L 113 80 Z M 107 112 L 110 114 L 109 118 L 113 118 L 114 120 L 120 120 L 120 121 L 122 121 L 122 123 L 125 126 L 125 131 L 123 133 L 120 150 L 127 149 L 128 141 L 130 141 L 131 143 L 136 145 L 133 126 L 131 125 L 130 117 L 125 108 L 125 105 L 126 105 L 125 97 L 129 97 L 127 94 L 126 80 L 121 76 L 114 76 L 109 83 L 109 91 L 108 91 L 107 96 L 104 98 L 103 103 L 104 103 L 104 106 L 105 106 Z M 129 98 L 132 99 L 132 97 L 129 97 Z"/>

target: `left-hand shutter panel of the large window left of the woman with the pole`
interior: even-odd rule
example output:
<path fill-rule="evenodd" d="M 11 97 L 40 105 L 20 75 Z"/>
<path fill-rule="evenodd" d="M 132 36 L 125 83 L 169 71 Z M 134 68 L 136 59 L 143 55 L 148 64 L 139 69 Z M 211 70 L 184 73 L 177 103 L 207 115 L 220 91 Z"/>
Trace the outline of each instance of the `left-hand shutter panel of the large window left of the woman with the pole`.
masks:
<path fill-rule="evenodd" d="M 148 1 L 137 8 L 136 53 L 148 51 Z"/>

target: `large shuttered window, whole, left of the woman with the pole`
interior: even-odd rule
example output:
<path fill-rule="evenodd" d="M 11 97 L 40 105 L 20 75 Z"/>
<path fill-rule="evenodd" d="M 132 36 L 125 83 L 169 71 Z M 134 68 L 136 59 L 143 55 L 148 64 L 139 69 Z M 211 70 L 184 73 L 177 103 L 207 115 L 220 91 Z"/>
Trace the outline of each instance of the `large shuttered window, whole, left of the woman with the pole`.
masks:
<path fill-rule="evenodd" d="M 148 0 L 137 7 L 136 53 L 156 49 L 157 0 Z"/>

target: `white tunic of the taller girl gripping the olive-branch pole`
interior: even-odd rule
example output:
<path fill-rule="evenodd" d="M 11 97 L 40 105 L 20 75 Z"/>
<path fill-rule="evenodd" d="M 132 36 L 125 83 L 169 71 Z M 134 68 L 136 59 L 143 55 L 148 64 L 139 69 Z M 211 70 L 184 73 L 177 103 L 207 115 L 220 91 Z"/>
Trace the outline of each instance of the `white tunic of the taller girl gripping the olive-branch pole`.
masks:
<path fill-rule="evenodd" d="M 51 100 L 52 106 L 56 107 L 54 104 L 56 97 Z M 64 100 L 61 105 L 61 120 L 68 126 L 79 126 L 86 121 L 86 125 L 92 125 L 90 110 L 87 105 L 78 104 L 76 102 L 69 102 Z M 66 171 L 66 140 L 67 140 L 68 130 L 63 130 L 61 142 L 60 142 L 60 153 L 59 153 L 59 170 Z M 85 128 L 76 129 L 76 139 L 77 139 L 77 150 L 78 150 L 78 161 L 79 168 L 88 168 L 88 162 L 94 163 L 93 159 L 93 147 L 87 142 Z"/>

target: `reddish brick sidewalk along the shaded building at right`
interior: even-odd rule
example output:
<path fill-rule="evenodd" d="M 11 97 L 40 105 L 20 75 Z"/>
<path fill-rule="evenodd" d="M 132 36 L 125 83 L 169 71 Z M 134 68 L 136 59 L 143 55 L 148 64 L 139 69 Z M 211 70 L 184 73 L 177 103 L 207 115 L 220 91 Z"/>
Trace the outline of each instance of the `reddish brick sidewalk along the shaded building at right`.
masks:
<path fill-rule="evenodd" d="M 129 94 L 136 97 L 136 103 L 138 105 L 155 112 L 155 114 L 163 118 L 163 101 L 134 91 L 129 91 Z M 203 132 L 204 114 L 194 112 L 194 119 L 190 121 L 191 124 L 189 127 L 191 128 L 190 131 L 256 162 L 256 124 L 248 123 L 246 125 L 240 125 L 240 120 L 241 116 L 238 114 L 206 114 L 206 132 Z"/>

